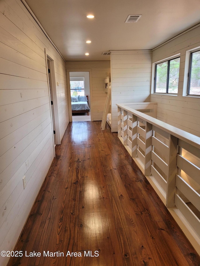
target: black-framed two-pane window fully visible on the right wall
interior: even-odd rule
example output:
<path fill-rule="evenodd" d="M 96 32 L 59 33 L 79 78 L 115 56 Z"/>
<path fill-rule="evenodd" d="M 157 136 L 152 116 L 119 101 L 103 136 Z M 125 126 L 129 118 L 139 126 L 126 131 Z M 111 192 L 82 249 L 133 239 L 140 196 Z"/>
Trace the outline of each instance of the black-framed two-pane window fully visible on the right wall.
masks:
<path fill-rule="evenodd" d="M 156 64 L 154 92 L 178 94 L 179 68 L 180 57 Z"/>

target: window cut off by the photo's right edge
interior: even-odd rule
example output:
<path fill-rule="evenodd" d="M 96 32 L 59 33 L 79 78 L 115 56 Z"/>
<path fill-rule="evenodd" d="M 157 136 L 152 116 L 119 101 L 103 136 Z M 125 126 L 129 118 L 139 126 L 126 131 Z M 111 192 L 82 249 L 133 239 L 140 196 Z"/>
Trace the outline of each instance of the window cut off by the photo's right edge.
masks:
<path fill-rule="evenodd" d="M 200 51 L 191 53 L 188 94 L 200 95 Z"/>

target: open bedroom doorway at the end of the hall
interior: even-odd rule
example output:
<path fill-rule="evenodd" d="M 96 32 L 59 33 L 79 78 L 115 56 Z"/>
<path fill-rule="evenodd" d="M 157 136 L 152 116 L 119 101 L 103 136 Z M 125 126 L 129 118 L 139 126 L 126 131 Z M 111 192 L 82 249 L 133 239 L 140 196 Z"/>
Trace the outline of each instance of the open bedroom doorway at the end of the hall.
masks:
<path fill-rule="evenodd" d="M 86 105 L 82 105 L 82 101 L 87 101 L 90 109 L 90 78 L 89 71 L 69 72 L 70 80 L 70 97 L 72 109 L 72 122 L 91 121 L 90 111 Z M 85 97 L 87 96 L 87 97 Z M 85 99 L 84 99 L 85 97 Z M 77 101 L 78 102 L 73 102 Z M 82 110 L 83 109 L 83 110 Z M 78 112 L 80 110 L 80 112 Z"/>

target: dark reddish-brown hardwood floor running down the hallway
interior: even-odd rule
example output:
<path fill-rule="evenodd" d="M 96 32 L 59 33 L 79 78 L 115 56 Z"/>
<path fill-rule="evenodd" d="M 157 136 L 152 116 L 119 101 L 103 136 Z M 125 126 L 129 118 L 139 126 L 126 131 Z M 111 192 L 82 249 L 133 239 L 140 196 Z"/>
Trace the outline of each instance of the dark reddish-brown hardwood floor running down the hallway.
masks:
<path fill-rule="evenodd" d="M 200 265 L 117 133 L 108 125 L 102 131 L 101 121 L 68 125 L 15 250 L 23 256 L 9 266 Z M 41 256 L 28 257 L 34 251 Z"/>

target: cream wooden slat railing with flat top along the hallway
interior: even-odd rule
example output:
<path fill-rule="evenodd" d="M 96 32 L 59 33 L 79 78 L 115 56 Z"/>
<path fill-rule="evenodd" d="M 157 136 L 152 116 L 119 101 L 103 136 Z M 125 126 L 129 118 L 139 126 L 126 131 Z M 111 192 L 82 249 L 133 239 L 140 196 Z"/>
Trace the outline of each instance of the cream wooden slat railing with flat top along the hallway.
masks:
<path fill-rule="evenodd" d="M 166 206 L 178 208 L 200 237 L 200 138 L 156 119 L 152 103 L 142 104 L 117 104 L 118 137 L 165 191 Z M 153 117 L 144 114 L 149 107 Z"/>

